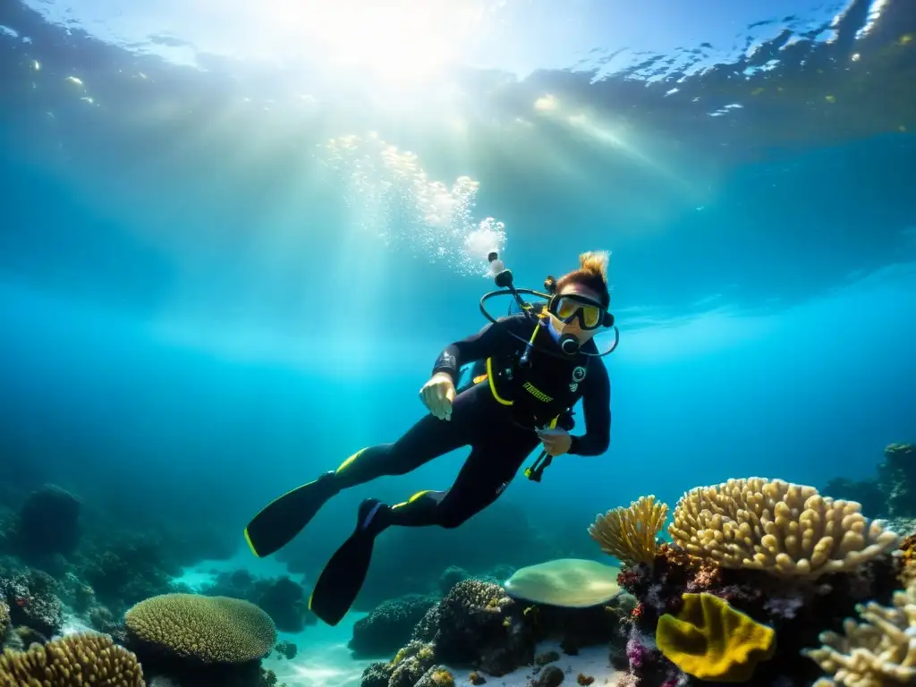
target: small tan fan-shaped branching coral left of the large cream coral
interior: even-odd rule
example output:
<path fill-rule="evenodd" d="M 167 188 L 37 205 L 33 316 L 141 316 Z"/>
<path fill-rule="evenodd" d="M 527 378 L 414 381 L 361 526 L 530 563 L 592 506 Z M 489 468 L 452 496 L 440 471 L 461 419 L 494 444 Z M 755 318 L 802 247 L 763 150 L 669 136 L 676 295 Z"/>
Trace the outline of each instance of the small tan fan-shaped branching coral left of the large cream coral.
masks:
<path fill-rule="evenodd" d="M 629 507 L 616 507 L 599 515 L 588 533 L 601 551 L 630 565 L 655 560 L 656 538 L 668 518 L 667 504 L 655 496 L 640 496 Z"/>

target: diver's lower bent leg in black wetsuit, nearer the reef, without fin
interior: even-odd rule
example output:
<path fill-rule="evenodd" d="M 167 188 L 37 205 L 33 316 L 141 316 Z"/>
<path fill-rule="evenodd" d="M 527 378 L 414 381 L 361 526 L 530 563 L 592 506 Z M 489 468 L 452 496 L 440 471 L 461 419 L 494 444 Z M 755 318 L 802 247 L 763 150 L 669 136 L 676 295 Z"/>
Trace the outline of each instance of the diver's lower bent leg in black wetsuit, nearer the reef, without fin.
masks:
<path fill-rule="evenodd" d="M 373 529 L 462 525 L 496 501 L 537 445 L 533 432 L 507 428 L 501 437 L 474 446 L 448 491 L 420 492 L 396 506 L 376 508 L 371 512 Z"/>

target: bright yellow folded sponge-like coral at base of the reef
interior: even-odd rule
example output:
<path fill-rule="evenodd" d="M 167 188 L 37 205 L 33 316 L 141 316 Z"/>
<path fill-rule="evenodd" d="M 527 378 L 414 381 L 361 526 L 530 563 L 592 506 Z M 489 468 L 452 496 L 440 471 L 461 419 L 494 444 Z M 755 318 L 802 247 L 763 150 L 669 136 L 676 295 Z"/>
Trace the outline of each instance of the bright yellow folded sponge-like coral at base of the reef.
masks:
<path fill-rule="evenodd" d="M 700 680 L 747 682 L 776 650 L 776 633 L 713 594 L 683 594 L 675 616 L 659 618 L 655 641 L 666 658 Z"/>

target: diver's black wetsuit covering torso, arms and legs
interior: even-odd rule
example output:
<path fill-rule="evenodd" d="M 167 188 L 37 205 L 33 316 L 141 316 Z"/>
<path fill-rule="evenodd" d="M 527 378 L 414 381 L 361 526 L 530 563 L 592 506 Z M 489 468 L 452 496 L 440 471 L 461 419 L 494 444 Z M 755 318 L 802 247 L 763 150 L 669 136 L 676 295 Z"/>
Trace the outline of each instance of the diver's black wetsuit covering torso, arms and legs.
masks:
<path fill-rule="evenodd" d="M 537 329 L 537 333 L 535 330 Z M 521 340 L 509 334 L 515 333 Z M 471 446 L 471 454 L 447 491 L 420 492 L 387 509 L 388 525 L 454 528 L 496 501 L 518 468 L 538 447 L 535 427 L 549 424 L 583 399 L 585 433 L 573 436 L 569 453 L 605 453 L 610 441 L 610 384 L 601 358 L 584 354 L 560 358 L 532 348 L 526 365 L 518 359 L 526 342 L 560 353 L 542 325 L 523 314 L 487 325 L 448 346 L 433 374 L 445 372 L 457 385 L 463 365 L 486 360 L 489 375 L 454 399 L 451 420 L 427 415 L 394 443 L 363 449 L 333 476 L 336 487 L 360 485 L 383 475 L 407 474 L 445 453 Z M 584 350 L 596 353 L 594 342 Z"/>

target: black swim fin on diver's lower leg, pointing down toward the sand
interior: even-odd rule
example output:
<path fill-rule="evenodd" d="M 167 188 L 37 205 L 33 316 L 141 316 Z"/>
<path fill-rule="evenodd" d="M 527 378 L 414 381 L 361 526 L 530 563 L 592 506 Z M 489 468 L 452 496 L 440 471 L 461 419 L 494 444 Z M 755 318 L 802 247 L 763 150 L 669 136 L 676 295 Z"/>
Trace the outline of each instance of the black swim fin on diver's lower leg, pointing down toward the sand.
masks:
<path fill-rule="evenodd" d="M 309 608 L 328 625 L 337 625 L 344 618 L 363 587 L 376 536 L 385 529 L 384 526 L 379 527 L 377 520 L 378 511 L 382 508 L 387 506 L 375 499 L 363 501 L 359 507 L 356 529 L 350 539 L 334 552 L 315 583 Z"/>

